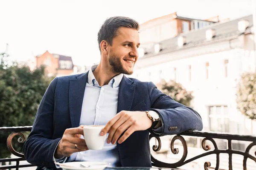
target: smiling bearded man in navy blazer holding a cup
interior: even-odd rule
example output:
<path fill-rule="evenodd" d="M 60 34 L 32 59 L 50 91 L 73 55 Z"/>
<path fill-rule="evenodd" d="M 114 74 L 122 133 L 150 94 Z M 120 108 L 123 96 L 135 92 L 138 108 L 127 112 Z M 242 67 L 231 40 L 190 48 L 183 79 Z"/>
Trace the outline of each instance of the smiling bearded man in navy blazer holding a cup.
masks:
<path fill-rule="evenodd" d="M 28 162 L 48 168 L 55 168 L 55 161 L 151 167 L 149 132 L 164 136 L 202 130 L 201 117 L 192 108 L 152 82 L 125 77 L 138 59 L 139 27 L 128 17 L 107 19 L 98 33 L 99 65 L 52 80 L 24 144 Z M 106 125 L 100 133 L 108 133 L 103 150 L 88 150 L 83 125 Z"/>

